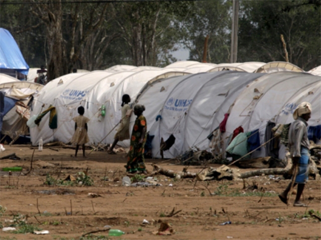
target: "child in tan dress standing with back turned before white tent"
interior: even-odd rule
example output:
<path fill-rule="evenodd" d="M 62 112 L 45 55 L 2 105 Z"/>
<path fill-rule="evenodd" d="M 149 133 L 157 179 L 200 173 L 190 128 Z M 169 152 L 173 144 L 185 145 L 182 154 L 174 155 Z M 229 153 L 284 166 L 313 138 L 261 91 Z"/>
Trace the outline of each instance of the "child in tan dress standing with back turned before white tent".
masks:
<path fill-rule="evenodd" d="M 84 116 L 85 108 L 83 106 L 78 107 L 78 113 L 79 116 L 73 118 L 73 120 L 75 121 L 75 133 L 71 138 L 71 142 L 76 143 L 75 156 L 77 156 L 79 145 L 82 145 L 83 156 L 85 157 L 85 143 L 89 141 L 89 137 L 87 134 L 87 122 L 89 121 L 89 118 Z"/>

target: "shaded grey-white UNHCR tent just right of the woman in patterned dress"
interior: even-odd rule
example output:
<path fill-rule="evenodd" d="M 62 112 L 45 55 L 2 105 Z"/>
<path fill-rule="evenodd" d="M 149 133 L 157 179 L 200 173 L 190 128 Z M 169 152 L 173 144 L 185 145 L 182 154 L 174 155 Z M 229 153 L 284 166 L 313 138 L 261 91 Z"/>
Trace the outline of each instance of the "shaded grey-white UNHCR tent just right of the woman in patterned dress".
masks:
<path fill-rule="evenodd" d="M 208 148 L 207 135 L 224 118 L 238 93 L 262 74 L 220 71 L 162 79 L 149 83 L 138 97 L 144 104 L 147 130 L 155 135 L 152 154 L 159 157 L 161 138 L 176 137 L 165 157 L 175 157 L 197 145 Z M 162 119 L 156 121 L 158 115 Z M 158 116 L 159 118 L 159 116 Z"/>

